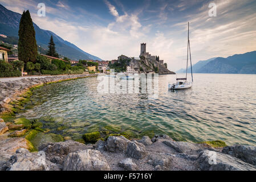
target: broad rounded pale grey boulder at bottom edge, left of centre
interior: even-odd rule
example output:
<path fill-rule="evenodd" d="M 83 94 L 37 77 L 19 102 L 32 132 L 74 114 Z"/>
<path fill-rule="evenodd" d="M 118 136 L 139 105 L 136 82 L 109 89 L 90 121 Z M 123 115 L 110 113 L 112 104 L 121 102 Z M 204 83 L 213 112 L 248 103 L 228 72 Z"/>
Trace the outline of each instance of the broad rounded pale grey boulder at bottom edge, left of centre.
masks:
<path fill-rule="evenodd" d="M 67 155 L 64 171 L 109 171 L 107 160 L 97 150 L 79 150 Z"/>

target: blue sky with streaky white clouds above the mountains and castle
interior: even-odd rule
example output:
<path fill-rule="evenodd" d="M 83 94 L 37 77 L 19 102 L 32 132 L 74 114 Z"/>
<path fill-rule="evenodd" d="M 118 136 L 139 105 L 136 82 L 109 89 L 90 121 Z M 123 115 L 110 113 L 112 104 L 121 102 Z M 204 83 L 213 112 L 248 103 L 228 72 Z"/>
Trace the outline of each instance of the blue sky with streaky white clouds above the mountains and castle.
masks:
<path fill-rule="evenodd" d="M 188 22 L 192 63 L 256 50 L 255 0 L 0 0 L 30 10 L 34 23 L 103 60 L 139 57 L 140 43 L 168 69 L 186 66 Z M 46 5 L 39 17 L 38 3 Z M 216 5 L 216 16 L 210 3 Z"/>

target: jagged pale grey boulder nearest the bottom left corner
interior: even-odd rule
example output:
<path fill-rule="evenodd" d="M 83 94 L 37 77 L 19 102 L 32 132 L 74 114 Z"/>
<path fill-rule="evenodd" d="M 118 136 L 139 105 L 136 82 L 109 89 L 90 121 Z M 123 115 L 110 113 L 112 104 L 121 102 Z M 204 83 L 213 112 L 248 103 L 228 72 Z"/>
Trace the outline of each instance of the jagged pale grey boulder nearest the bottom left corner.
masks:
<path fill-rule="evenodd" d="M 60 171 L 58 165 L 46 160 L 45 155 L 32 154 L 28 150 L 22 148 L 11 156 L 7 171 Z"/>

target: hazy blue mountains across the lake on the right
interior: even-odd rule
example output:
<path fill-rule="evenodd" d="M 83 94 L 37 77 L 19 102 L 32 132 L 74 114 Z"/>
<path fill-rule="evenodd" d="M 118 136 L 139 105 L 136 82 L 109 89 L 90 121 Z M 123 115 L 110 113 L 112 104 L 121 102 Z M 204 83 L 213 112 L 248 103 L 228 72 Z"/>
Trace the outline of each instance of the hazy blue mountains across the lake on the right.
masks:
<path fill-rule="evenodd" d="M 193 73 L 256 74 L 256 51 L 229 57 L 214 57 L 192 65 Z M 180 69 L 177 73 L 185 73 Z M 190 68 L 188 69 L 190 73 Z"/>

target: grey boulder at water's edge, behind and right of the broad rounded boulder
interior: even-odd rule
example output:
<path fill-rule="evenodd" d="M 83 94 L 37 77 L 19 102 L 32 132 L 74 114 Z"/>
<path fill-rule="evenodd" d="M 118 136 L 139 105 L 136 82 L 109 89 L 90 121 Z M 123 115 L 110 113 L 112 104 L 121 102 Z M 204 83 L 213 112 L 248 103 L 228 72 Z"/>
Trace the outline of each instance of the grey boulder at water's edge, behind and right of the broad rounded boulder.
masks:
<path fill-rule="evenodd" d="M 131 141 L 123 136 L 111 136 L 108 137 L 105 148 L 109 152 L 124 152 L 127 150 L 127 145 L 129 142 Z"/>

